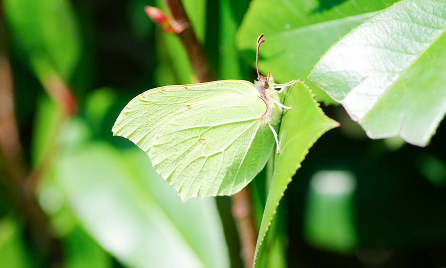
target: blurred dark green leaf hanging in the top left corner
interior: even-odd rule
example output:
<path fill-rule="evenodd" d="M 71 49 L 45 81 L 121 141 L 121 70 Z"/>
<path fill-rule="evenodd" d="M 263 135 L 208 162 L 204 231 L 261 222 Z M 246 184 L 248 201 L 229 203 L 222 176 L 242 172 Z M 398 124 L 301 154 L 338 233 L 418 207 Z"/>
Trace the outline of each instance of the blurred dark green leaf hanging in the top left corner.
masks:
<path fill-rule="evenodd" d="M 80 36 L 67 0 L 2 1 L 12 35 L 41 80 L 56 72 L 65 80 L 80 56 Z"/>

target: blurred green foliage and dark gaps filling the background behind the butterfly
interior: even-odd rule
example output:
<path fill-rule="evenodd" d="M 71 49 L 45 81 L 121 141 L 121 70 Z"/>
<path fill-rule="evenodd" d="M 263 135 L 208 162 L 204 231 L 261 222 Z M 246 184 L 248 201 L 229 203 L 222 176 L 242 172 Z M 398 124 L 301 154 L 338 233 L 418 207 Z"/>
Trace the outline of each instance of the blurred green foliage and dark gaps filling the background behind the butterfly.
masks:
<path fill-rule="evenodd" d="M 264 32 L 261 71 L 280 83 L 306 80 L 324 103 L 334 101 L 306 78 L 312 67 L 338 38 L 392 4 L 183 3 L 218 79 L 255 78 L 254 44 Z M 1 2 L 0 109 L 8 107 L 5 81 L 13 77 L 22 153 L 2 143 L 0 267 L 242 267 L 229 199 L 183 204 L 144 152 L 111 136 L 137 94 L 196 81 L 179 40 L 155 27 L 145 5 L 163 7 L 151 0 Z M 444 74 L 426 73 L 431 81 Z M 322 109 L 341 127 L 315 143 L 294 175 L 256 267 L 445 266 L 444 124 L 420 148 L 372 140 L 341 106 Z M 2 134 L 10 134 L 1 116 Z M 14 178 L 24 179 L 25 190 L 17 191 Z M 258 228 L 269 184 L 251 184 Z"/>

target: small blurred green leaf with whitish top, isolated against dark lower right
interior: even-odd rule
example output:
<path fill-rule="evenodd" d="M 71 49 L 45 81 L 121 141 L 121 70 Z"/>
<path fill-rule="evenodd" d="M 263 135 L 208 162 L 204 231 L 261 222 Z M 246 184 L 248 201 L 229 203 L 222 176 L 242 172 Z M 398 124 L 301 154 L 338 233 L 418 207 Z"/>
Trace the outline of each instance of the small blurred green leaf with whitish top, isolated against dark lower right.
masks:
<path fill-rule="evenodd" d="M 319 171 L 311 178 L 304 218 L 310 245 L 344 254 L 355 249 L 355 188 L 355 177 L 348 171 Z"/>

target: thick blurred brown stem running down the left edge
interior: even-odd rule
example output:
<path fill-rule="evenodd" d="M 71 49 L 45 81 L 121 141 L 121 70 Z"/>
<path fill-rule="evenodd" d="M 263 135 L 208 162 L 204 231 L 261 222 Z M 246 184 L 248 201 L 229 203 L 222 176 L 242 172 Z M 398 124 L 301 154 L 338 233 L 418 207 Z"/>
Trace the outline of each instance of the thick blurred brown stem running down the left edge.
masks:
<path fill-rule="evenodd" d="M 8 175 L 5 186 L 11 193 L 17 213 L 24 217 L 30 228 L 38 254 L 49 257 L 52 266 L 56 267 L 61 264 L 60 245 L 51 232 L 47 215 L 36 200 L 35 191 L 24 187 L 25 178 L 33 173 L 27 175 L 29 167 L 23 156 L 16 122 L 12 73 L 9 61 L 0 52 L 0 156 Z"/>

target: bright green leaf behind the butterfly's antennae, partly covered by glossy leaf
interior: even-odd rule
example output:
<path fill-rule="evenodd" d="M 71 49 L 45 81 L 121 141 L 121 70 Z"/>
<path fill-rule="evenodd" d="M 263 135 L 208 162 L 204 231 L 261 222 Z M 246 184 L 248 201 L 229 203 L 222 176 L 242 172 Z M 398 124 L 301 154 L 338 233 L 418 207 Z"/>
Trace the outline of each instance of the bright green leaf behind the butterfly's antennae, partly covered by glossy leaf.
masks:
<path fill-rule="evenodd" d="M 393 1 L 253 0 L 237 33 L 238 48 L 252 62 L 252 46 L 265 33 L 259 69 L 279 82 L 305 79 L 319 57 L 364 19 Z M 321 102 L 335 103 L 311 81 L 307 84 Z"/>

